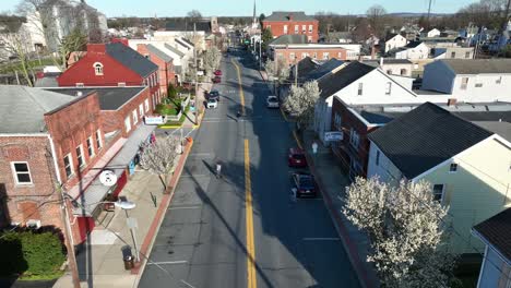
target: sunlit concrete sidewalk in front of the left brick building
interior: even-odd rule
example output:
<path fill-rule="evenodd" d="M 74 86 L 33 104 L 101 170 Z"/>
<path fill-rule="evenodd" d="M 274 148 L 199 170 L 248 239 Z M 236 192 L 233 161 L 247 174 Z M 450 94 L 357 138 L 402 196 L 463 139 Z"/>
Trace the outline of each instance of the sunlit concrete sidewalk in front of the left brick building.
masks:
<path fill-rule="evenodd" d="M 165 214 L 170 203 L 174 188 L 191 145 L 192 141 L 188 143 L 181 157 L 176 160 L 176 169 L 168 181 L 166 193 L 164 193 L 158 176 L 136 170 L 119 194 L 136 204 L 135 208 L 129 211 L 129 217 L 138 221 L 135 239 L 141 251 L 141 263 L 135 264 L 133 269 L 124 269 L 123 251 L 134 245 L 127 225 L 127 215 L 123 211 L 116 208 L 111 220 L 97 225 L 87 238 L 84 248 L 76 255 L 82 287 L 136 287 L 141 266 L 145 264 L 145 255 L 148 254 L 153 238 L 156 236 L 162 215 Z M 155 196 L 156 203 L 153 202 L 151 194 Z M 133 249 L 131 252 L 134 254 Z M 54 285 L 54 288 L 68 287 L 73 287 L 69 271 Z"/>

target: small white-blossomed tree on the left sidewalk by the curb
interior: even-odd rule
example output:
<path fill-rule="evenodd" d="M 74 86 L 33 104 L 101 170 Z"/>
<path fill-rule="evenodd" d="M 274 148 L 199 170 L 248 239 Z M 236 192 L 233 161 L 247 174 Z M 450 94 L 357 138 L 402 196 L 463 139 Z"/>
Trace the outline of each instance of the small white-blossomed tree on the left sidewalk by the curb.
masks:
<path fill-rule="evenodd" d="M 174 168 L 174 163 L 180 149 L 179 140 L 175 136 L 158 139 L 154 143 L 145 143 L 142 146 L 140 166 L 152 173 L 158 175 L 164 188 L 166 180 Z"/>

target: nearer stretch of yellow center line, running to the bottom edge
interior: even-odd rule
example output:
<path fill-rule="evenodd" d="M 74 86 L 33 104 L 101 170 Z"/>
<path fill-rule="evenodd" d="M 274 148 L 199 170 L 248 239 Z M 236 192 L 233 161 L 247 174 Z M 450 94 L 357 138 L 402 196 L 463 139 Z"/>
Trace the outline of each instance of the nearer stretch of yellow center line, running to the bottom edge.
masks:
<path fill-rule="evenodd" d="M 252 184 L 250 182 L 250 153 L 249 141 L 245 140 L 245 206 L 247 226 L 247 287 L 257 288 L 258 277 L 255 274 L 255 244 L 253 242 L 253 208 L 252 208 Z"/>

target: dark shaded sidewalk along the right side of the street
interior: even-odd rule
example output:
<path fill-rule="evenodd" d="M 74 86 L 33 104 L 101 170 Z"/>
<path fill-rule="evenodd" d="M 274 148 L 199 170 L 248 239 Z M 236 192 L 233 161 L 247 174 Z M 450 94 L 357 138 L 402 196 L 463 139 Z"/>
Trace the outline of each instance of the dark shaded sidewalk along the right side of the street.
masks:
<path fill-rule="evenodd" d="M 318 143 L 318 153 L 312 155 L 312 143 Z M 367 236 L 358 230 L 342 213 L 345 188 L 349 185 L 347 175 L 341 169 L 329 147 L 321 144 L 316 132 L 307 130 L 301 133 L 301 144 L 307 152 L 311 172 L 320 187 L 323 200 L 334 220 L 335 228 L 343 241 L 363 287 L 379 287 L 372 263 L 366 261 L 370 244 Z"/>

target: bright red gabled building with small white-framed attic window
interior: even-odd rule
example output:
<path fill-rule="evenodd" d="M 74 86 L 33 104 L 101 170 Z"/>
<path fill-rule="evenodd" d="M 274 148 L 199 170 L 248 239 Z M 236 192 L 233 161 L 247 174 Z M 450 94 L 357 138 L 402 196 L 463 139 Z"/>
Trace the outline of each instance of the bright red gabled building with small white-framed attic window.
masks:
<path fill-rule="evenodd" d="M 157 103 L 158 67 L 121 43 L 90 44 L 83 58 L 66 70 L 57 82 L 60 87 L 148 86 Z"/>

